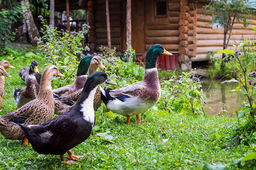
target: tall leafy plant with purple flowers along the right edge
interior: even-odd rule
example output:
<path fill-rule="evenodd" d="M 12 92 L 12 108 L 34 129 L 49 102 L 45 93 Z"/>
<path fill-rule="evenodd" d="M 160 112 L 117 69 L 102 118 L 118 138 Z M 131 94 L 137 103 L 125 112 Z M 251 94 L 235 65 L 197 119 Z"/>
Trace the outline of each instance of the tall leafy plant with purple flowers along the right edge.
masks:
<path fill-rule="evenodd" d="M 256 31 L 256 27 L 252 27 Z M 224 49 L 218 53 L 225 53 L 226 57 L 223 61 L 226 62 L 236 78 L 226 80 L 225 82 L 238 82 L 235 90 L 246 96 L 247 101 L 243 101 L 243 106 L 236 109 L 236 114 L 240 118 L 240 128 L 237 129 L 237 134 L 240 140 L 250 146 L 249 153 L 243 158 L 237 160 L 238 163 L 244 164 L 245 161 L 256 159 L 256 71 L 255 61 L 256 54 L 254 53 L 256 41 L 245 39 L 240 45 L 233 45 L 234 50 Z M 223 82 L 224 83 L 224 82 Z M 254 133 L 253 133 L 254 132 Z"/>

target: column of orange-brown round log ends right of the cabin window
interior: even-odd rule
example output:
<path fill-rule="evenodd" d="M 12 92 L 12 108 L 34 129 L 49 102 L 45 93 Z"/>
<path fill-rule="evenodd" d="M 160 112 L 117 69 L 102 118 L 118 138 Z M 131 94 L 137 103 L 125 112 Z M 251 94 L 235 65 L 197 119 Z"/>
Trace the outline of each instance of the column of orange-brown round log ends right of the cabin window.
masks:
<path fill-rule="evenodd" d="M 194 2 L 187 0 L 181 0 L 180 3 L 179 61 L 184 62 L 196 56 L 196 6 Z"/>

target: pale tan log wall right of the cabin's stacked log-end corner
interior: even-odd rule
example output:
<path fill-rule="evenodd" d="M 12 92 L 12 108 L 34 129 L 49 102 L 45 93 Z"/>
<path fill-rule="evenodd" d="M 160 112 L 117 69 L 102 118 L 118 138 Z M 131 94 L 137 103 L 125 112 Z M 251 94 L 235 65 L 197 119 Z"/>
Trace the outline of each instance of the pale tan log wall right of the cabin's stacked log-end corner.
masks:
<path fill-rule="evenodd" d="M 190 61 L 206 61 L 209 59 L 208 52 L 213 51 L 216 53 L 218 50 L 223 49 L 223 40 L 224 40 L 224 28 L 212 28 L 211 24 L 208 24 L 212 20 L 212 16 L 204 16 L 206 11 L 203 9 L 203 6 L 206 5 L 205 1 L 198 1 L 196 4 L 197 12 L 197 25 L 196 25 L 196 57 L 191 58 Z M 191 19 L 192 20 L 192 19 Z M 256 18 L 248 19 L 250 20 L 250 25 L 244 28 L 242 23 L 234 23 L 232 35 L 229 41 L 229 47 L 232 47 L 232 44 L 240 44 L 242 39 L 256 39 L 256 33 L 250 27 L 256 26 Z M 188 28 L 191 28 L 192 25 L 189 25 Z M 228 35 L 227 35 L 228 38 Z M 192 41 L 192 39 L 190 39 Z"/>

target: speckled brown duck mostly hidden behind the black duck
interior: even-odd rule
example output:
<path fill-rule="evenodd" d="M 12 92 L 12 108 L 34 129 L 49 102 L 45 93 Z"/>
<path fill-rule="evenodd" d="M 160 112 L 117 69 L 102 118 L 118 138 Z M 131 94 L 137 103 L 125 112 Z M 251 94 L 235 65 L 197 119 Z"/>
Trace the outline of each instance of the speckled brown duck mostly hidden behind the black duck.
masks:
<path fill-rule="evenodd" d="M 89 66 L 89 75 L 93 74 L 95 71 L 98 71 L 98 69 L 105 69 L 106 67 L 102 64 L 102 58 L 100 56 L 94 56 L 91 59 L 90 66 Z M 69 111 L 73 108 L 75 105 L 75 102 L 78 100 L 78 98 L 82 94 L 82 88 L 80 90 L 77 90 L 73 92 L 72 94 L 57 97 L 54 99 L 54 105 L 55 105 L 55 114 L 62 114 L 66 111 Z M 102 103 L 101 100 L 101 94 L 99 88 L 96 91 L 96 94 L 94 96 L 94 111 L 96 111 Z"/>

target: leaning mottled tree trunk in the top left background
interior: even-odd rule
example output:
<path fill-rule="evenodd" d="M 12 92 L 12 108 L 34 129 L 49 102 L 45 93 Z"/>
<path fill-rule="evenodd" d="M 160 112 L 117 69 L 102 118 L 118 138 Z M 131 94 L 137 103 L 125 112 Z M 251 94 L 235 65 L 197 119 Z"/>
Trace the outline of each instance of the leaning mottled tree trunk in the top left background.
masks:
<path fill-rule="evenodd" d="M 22 0 L 22 7 L 24 8 L 23 15 L 28 30 L 28 36 L 30 37 L 32 44 L 36 44 L 34 39 L 35 37 L 40 37 L 40 35 L 33 20 L 32 12 L 30 10 L 30 2 L 28 2 L 28 0 Z"/>

